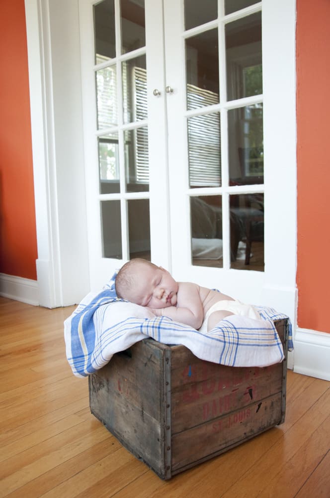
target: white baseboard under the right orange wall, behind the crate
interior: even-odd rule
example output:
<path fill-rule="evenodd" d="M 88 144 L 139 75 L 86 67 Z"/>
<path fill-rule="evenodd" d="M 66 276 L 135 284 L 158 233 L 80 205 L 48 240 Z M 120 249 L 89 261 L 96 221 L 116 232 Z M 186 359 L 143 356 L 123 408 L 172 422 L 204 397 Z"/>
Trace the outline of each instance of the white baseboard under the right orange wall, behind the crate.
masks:
<path fill-rule="evenodd" d="M 294 372 L 330 380 L 330 334 L 298 328 L 293 354 Z"/>

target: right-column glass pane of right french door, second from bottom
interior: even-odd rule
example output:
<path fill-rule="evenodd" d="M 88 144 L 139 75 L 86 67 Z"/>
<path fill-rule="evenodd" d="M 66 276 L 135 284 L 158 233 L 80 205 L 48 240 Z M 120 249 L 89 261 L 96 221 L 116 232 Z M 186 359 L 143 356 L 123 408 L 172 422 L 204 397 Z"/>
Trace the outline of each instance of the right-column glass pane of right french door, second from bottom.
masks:
<path fill-rule="evenodd" d="M 263 183 L 262 104 L 228 111 L 231 185 Z"/>

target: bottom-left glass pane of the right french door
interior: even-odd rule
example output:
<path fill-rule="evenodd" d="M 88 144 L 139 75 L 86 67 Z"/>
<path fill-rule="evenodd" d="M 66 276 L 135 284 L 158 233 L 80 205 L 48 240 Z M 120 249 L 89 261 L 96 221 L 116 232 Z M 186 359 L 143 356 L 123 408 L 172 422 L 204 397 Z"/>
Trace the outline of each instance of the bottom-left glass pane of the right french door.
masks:
<path fill-rule="evenodd" d="M 191 259 L 195 266 L 222 267 L 221 196 L 190 197 Z"/>

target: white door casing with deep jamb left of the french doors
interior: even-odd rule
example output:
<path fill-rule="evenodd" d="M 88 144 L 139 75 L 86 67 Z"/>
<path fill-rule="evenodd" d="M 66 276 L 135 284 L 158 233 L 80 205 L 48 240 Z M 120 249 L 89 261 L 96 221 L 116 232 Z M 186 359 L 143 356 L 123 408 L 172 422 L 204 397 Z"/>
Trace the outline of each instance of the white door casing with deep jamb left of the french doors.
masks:
<path fill-rule="evenodd" d="M 54 308 L 89 291 L 78 2 L 25 0 L 25 16 L 38 294 Z"/>

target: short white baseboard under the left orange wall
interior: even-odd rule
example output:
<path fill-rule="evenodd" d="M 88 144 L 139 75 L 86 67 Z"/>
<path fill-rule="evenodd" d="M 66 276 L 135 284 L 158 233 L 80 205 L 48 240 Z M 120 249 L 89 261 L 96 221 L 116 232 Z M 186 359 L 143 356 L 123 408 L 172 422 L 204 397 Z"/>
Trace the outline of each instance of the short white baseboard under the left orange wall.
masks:
<path fill-rule="evenodd" d="M 38 282 L 0 273 L 0 296 L 39 306 Z"/>

